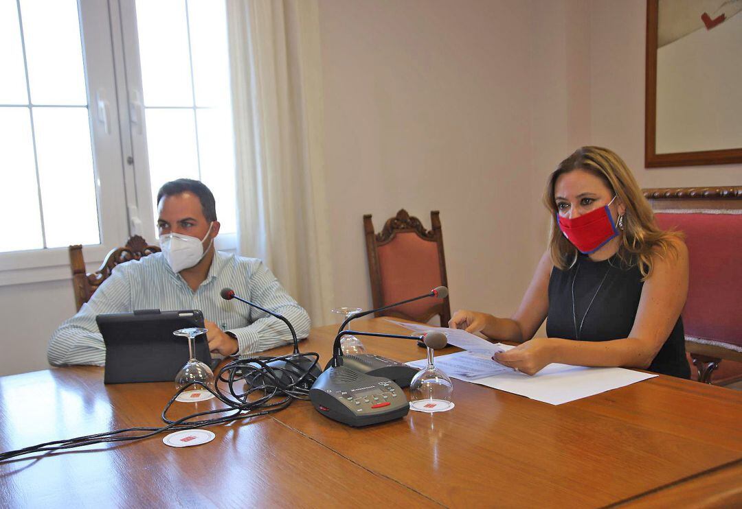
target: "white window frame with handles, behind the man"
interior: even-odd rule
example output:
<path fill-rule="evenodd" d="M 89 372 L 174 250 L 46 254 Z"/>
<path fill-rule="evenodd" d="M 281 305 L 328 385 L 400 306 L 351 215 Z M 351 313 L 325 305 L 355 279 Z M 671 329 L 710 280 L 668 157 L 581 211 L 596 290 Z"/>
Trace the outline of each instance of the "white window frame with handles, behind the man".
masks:
<path fill-rule="evenodd" d="M 83 246 L 92 271 L 131 235 L 156 242 L 156 211 L 134 0 L 78 0 L 78 6 L 101 233 L 100 244 Z M 104 107 L 107 125 L 100 122 Z M 220 235 L 214 244 L 235 250 L 237 234 Z M 70 278 L 67 247 L 0 253 L 0 286 Z"/>

